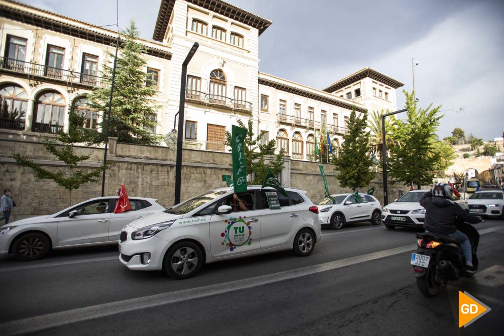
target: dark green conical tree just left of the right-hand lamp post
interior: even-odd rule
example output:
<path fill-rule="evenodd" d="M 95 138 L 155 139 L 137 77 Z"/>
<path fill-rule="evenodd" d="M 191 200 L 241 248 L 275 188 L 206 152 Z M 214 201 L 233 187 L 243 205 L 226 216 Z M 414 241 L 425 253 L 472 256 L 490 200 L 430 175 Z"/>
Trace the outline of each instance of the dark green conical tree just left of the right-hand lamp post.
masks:
<path fill-rule="evenodd" d="M 332 163 L 334 169 L 339 171 L 336 177 L 342 187 L 363 188 L 369 185 L 374 173 L 369 170 L 373 160 L 369 155 L 369 132 L 366 132 L 367 114 L 358 118 L 355 113 L 355 106 L 347 125 L 347 134 L 343 136 L 340 155 L 333 155 Z"/>

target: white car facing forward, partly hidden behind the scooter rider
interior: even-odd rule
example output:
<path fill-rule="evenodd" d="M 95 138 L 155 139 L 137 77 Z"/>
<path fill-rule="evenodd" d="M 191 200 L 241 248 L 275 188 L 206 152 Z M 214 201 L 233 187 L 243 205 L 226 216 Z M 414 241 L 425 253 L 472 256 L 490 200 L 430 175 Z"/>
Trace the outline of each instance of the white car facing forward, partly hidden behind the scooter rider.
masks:
<path fill-rule="evenodd" d="M 404 193 L 383 207 L 382 220 L 387 229 L 396 227 L 414 228 L 423 230 L 423 220 L 425 218 L 425 208 L 420 205 L 420 199 L 430 190 L 411 190 Z M 456 200 L 464 210 L 469 211 L 465 200 Z"/>

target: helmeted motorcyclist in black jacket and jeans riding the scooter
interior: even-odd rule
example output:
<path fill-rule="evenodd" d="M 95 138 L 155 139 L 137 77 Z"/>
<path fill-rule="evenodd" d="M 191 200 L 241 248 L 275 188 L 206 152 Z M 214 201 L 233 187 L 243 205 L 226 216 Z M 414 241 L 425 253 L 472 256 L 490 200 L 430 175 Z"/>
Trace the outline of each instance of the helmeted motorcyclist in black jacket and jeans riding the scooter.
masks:
<path fill-rule="evenodd" d="M 462 209 L 454 203 L 452 198 L 452 187 L 446 183 L 436 183 L 432 191 L 426 192 L 420 199 L 420 205 L 425 208 L 425 219 L 423 227 L 425 232 L 433 232 L 449 235 L 459 243 L 466 260 L 466 270 L 474 272 L 472 264 L 471 243 L 467 236 L 457 230 L 455 226 L 456 218 L 471 224 L 479 223 L 481 219 Z"/>

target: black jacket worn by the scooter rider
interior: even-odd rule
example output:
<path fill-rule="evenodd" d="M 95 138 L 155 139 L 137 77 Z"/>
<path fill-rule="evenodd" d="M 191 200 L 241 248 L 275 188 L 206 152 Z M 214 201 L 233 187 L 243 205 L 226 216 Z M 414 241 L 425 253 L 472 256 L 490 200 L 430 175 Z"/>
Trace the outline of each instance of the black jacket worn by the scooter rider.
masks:
<path fill-rule="evenodd" d="M 456 218 L 473 224 L 481 221 L 479 217 L 473 216 L 449 199 L 432 197 L 430 191 L 423 195 L 420 205 L 425 208 L 423 227 L 431 232 L 454 233 L 457 230 L 455 226 Z"/>

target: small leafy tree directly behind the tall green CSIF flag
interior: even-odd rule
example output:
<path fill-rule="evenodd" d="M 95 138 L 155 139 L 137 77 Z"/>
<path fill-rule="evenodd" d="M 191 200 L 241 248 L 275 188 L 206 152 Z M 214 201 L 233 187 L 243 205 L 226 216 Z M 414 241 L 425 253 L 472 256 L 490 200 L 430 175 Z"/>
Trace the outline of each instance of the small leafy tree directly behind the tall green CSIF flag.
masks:
<path fill-rule="evenodd" d="M 236 118 L 238 126 L 247 130 L 245 138 L 243 139 L 243 154 L 245 155 L 245 170 L 247 172 L 247 184 L 258 185 L 263 184 L 264 179 L 268 173 L 268 169 L 278 175 L 283 169 L 283 156 L 284 150 L 281 149 L 278 154 L 276 154 L 275 159 L 266 162 L 266 155 L 275 155 L 276 141 L 271 140 L 264 145 L 261 145 L 261 138 L 263 133 L 256 137 L 253 129 L 253 121 L 249 119 L 247 121 L 247 126 L 243 125 L 243 122 Z M 231 133 L 226 131 L 226 146 L 231 147 Z M 231 152 L 231 149 L 229 149 Z"/>

